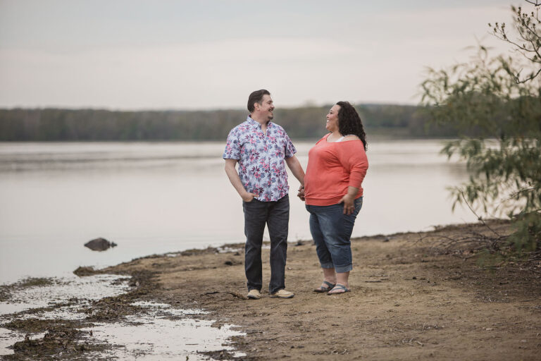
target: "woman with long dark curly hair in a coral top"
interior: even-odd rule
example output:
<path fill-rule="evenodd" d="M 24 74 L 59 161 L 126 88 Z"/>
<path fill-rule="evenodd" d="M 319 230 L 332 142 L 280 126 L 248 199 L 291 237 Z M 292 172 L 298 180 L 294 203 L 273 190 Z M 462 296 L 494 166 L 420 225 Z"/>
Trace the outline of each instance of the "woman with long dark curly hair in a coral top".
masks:
<path fill-rule="evenodd" d="M 361 183 L 368 169 L 366 134 L 359 114 L 349 102 L 337 102 L 327 114 L 330 132 L 310 149 L 304 196 L 310 212 L 310 231 L 323 269 L 323 283 L 315 292 L 349 292 L 352 235 L 363 204 Z"/>

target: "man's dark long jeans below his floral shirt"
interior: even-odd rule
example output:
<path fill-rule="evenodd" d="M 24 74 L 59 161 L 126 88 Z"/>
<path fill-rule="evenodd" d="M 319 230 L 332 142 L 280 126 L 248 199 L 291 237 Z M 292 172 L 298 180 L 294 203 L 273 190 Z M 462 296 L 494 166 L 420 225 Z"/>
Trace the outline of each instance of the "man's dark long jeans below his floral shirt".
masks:
<path fill-rule="evenodd" d="M 261 244 L 265 224 L 270 235 L 270 283 L 269 293 L 285 288 L 285 259 L 287 257 L 287 227 L 290 221 L 290 197 L 285 195 L 276 202 L 252 200 L 242 202 L 244 209 L 244 234 L 246 247 L 244 270 L 248 290 L 261 290 Z"/>

